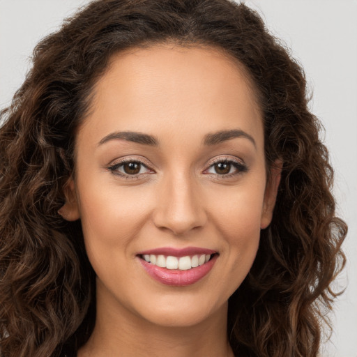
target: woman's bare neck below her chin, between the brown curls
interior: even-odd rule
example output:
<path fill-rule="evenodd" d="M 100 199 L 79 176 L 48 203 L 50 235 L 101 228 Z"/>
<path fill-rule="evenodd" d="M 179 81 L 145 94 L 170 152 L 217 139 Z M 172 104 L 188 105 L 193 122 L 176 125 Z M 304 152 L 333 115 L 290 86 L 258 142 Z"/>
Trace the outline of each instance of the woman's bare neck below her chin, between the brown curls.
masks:
<path fill-rule="evenodd" d="M 192 326 L 159 326 L 97 299 L 96 326 L 78 357 L 234 357 L 227 339 L 227 304 Z"/>

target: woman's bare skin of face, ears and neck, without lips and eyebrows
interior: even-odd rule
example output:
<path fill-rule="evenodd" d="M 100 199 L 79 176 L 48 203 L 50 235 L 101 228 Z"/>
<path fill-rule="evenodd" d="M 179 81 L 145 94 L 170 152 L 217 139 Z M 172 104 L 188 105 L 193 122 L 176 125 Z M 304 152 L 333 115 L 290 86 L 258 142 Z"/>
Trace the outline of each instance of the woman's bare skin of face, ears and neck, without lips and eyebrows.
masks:
<path fill-rule="evenodd" d="M 246 136 L 204 144 L 222 130 Z M 153 135 L 158 146 L 98 144 L 128 131 Z M 60 213 L 82 221 L 97 274 L 96 326 L 79 357 L 233 356 L 227 301 L 252 266 L 280 179 L 273 169 L 266 180 L 261 112 L 241 66 L 211 47 L 156 45 L 114 56 L 94 88 L 75 154 Z M 147 168 L 119 176 L 123 166 L 108 167 L 122 158 Z M 222 174 L 215 160 L 241 166 Z M 153 280 L 137 257 L 190 246 L 219 256 L 187 287 Z"/>

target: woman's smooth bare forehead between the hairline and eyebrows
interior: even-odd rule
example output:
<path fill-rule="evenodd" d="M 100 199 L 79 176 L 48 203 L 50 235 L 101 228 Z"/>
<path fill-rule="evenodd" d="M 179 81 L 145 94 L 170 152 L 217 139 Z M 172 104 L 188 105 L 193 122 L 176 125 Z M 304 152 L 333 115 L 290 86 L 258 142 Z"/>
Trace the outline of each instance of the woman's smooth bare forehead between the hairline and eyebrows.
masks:
<path fill-rule="evenodd" d="M 92 98 L 84 128 L 102 137 L 113 130 L 160 136 L 166 126 L 199 137 L 237 127 L 261 131 L 262 126 L 245 69 L 215 47 L 155 45 L 120 52 L 109 61 Z"/>

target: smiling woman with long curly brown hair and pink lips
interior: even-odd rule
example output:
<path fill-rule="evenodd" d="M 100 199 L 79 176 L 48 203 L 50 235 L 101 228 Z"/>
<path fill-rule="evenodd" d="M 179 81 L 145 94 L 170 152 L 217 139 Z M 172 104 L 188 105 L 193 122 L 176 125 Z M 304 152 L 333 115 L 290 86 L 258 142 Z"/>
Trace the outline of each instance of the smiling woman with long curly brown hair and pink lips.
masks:
<path fill-rule="evenodd" d="M 317 356 L 347 227 L 305 86 L 226 0 L 43 40 L 1 115 L 1 354 Z"/>

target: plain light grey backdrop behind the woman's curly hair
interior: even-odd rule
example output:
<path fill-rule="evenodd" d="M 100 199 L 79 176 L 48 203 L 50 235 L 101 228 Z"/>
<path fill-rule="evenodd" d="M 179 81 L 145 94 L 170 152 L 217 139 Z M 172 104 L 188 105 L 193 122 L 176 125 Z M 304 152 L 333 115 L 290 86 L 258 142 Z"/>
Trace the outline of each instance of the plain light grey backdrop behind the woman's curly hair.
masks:
<path fill-rule="evenodd" d="M 33 47 L 87 0 L 0 0 L 0 108 L 10 103 Z M 357 0 L 251 0 L 269 29 L 303 64 L 314 92 L 310 108 L 324 123 L 335 168 L 338 212 L 349 224 L 347 289 L 331 315 L 334 332 L 321 356 L 357 357 Z"/>

